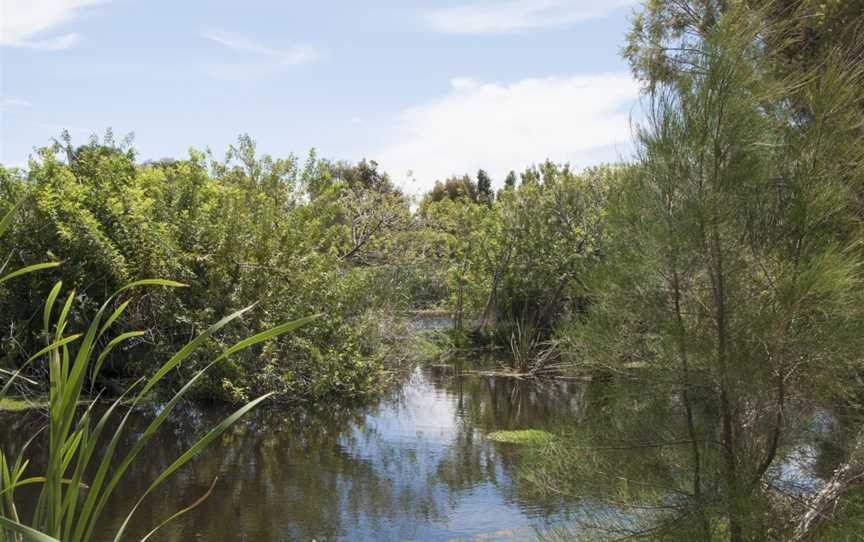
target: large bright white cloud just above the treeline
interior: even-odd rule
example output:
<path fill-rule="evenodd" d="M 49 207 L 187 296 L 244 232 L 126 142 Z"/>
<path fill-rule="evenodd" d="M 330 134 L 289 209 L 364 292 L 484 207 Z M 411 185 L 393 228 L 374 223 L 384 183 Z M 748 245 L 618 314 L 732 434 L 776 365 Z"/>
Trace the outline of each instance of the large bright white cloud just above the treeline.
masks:
<path fill-rule="evenodd" d="M 581 167 L 629 148 L 639 94 L 629 74 L 507 85 L 458 78 L 451 87 L 444 97 L 403 111 L 390 143 L 373 155 L 409 192 L 479 168 L 500 185 L 511 169 L 547 158 Z"/>

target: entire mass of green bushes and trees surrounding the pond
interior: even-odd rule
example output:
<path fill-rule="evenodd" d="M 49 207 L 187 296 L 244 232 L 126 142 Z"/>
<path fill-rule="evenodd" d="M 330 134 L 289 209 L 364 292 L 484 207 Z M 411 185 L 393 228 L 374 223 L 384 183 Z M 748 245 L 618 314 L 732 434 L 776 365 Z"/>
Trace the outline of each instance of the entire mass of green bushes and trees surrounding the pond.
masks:
<path fill-rule="evenodd" d="M 57 279 L 77 292 L 70 328 L 130 281 L 190 285 L 122 305 L 119 332 L 146 332 L 107 354 L 94 390 L 125 389 L 256 302 L 166 375 L 175 386 L 227 344 L 321 315 L 193 390 L 229 402 L 368 395 L 416 356 L 406 315 L 442 311 L 447 347 L 489 352 L 520 377 L 641 383 L 644 396 L 610 395 L 607 430 L 552 438 L 534 457 L 532 491 L 614 497 L 620 513 L 573 536 L 852 537 L 864 480 L 862 13 L 858 1 L 648 1 L 624 50 L 645 85 L 635 159 L 582 172 L 546 162 L 497 191 L 480 170 L 412 200 L 375 162 L 262 157 L 245 136 L 224 161 L 192 151 L 149 163 L 110 133 L 63 138 L 26 172 L 0 168 L 0 207 L 19 205 L 0 240 L 7 265 L 62 261 L 0 285 L 0 368 L 44 346 L 34 300 L 56 298 Z M 45 388 L 50 371 L 28 368 L 19 392 Z M 826 484 L 801 497 L 778 464 L 816 406 L 842 412 L 845 429 Z"/>

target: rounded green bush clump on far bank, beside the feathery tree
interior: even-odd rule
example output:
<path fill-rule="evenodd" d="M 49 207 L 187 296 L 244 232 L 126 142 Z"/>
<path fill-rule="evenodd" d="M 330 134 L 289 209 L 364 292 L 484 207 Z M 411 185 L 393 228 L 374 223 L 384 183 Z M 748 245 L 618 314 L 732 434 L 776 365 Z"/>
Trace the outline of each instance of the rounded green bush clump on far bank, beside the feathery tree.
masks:
<path fill-rule="evenodd" d="M 470 179 L 437 184 L 418 215 L 437 247 L 427 253 L 446 266 L 446 306 L 457 330 L 511 349 L 520 371 L 536 368 L 556 326 L 584 309 L 582 279 L 601 253 L 616 175 L 609 166 L 576 174 L 547 162 L 491 205 L 457 190 Z M 521 340 L 529 330 L 536 340 Z"/>

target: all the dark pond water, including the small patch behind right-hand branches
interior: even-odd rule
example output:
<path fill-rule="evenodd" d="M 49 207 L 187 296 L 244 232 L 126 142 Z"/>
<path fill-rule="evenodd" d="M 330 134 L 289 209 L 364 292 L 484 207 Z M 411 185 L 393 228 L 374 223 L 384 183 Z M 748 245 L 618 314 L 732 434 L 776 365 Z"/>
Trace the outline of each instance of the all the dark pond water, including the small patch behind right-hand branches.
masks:
<path fill-rule="evenodd" d="M 676 401 L 677 395 L 646 392 L 638 382 L 527 382 L 430 367 L 366 406 L 331 405 L 320 412 L 264 406 L 148 497 L 128 539 L 140 539 L 195 502 L 214 479 L 209 499 L 155 540 L 506 541 L 574 520 L 587 519 L 586 525 L 608 515 L 635 521 L 638 514 L 607 499 L 620 490 L 618 481 L 607 487 L 590 473 L 578 478 L 581 453 L 574 456 L 576 470 L 560 473 L 560 480 L 575 477 L 562 485 L 574 495 L 550 498 L 520 476 L 537 462 L 530 449 L 486 436 L 530 428 L 569 432 L 577 448 L 597 438 L 636 443 L 629 451 L 612 446 L 610 464 L 631 479 L 671 487 L 686 476 L 689 447 L 638 443 L 685 434 Z M 133 415 L 122 448 L 134 444 L 158 409 Z M 227 413 L 187 405 L 172 415 L 127 472 L 95 539 L 110 540 L 150 482 Z M 830 477 L 845 433 L 827 410 L 801 408 L 797 417 L 801 434 L 784 446 L 772 470 L 787 491 L 806 493 Z M 38 411 L 0 415 L 0 444 L 14 450 L 44 421 Z M 35 463 L 44 452 L 39 446 L 31 449 Z M 33 473 L 39 472 L 35 463 Z"/>

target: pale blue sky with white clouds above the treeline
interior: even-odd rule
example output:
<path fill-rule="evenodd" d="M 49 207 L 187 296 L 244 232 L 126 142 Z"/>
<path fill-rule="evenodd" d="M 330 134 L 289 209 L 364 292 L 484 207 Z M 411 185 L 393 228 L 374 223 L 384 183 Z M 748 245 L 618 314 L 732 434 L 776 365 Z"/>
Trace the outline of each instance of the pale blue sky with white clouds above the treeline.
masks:
<path fill-rule="evenodd" d="M 141 160 L 375 160 L 408 192 L 626 158 L 635 0 L 0 0 L 0 163 L 135 134 Z"/>

